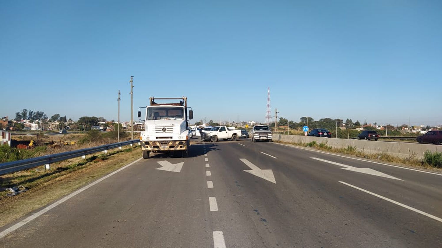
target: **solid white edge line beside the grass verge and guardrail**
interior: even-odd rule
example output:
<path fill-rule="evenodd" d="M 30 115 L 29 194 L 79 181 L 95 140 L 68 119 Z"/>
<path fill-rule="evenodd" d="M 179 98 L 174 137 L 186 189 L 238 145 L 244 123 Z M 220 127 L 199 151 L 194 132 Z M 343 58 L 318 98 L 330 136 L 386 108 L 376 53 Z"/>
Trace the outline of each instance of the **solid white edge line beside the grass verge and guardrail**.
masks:
<path fill-rule="evenodd" d="M 99 182 L 105 180 L 108 177 L 113 176 L 114 174 L 122 171 L 123 169 L 126 169 L 127 167 L 129 167 L 130 165 L 133 165 L 134 163 L 140 161 L 143 158 L 138 158 L 137 160 L 131 162 L 128 165 L 125 165 L 123 167 L 121 167 L 120 169 L 117 169 L 116 171 L 84 186 L 83 188 L 80 188 L 78 190 L 76 190 L 75 192 L 70 193 L 69 195 L 66 195 L 65 197 L 59 199 L 58 201 L 56 201 L 55 203 L 52 203 L 51 205 L 49 205 L 48 207 L 43 208 L 42 210 L 38 211 L 35 214 L 30 215 L 29 217 L 23 219 L 22 221 L 16 223 L 15 225 L 9 227 L 8 229 L 5 229 L 3 232 L 0 233 L 0 239 L 5 237 L 6 235 L 8 235 L 9 233 L 12 233 L 13 231 L 15 231 L 16 229 L 19 229 L 20 227 L 22 227 L 23 225 L 26 225 L 28 222 L 34 220 L 35 218 L 37 218 L 38 216 L 46 213 L 47 211 L 53 209 L 54 207 L 57 207 L 58 205 L 60 205 L 61 203 L 64 203 L 65 201 L 69 200 L 70 198 L 74 197 L 75 195 L 78 195 L 79 193 L 87 190 L 88 188 L 91 188 L 92 186 L 94 186 L 95 184 L 98 184 Z"/>

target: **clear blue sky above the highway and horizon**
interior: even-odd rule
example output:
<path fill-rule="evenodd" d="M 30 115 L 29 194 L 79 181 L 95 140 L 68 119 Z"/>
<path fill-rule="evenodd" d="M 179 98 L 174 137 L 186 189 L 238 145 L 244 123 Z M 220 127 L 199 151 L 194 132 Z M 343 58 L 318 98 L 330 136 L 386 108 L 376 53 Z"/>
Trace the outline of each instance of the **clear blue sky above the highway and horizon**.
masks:
<path fill-rule="evenodd" d="M 1 1 L 1 116 L 442 123 L 442 1 Z M 137 118 L 135 118 L 137 119 Z"/>

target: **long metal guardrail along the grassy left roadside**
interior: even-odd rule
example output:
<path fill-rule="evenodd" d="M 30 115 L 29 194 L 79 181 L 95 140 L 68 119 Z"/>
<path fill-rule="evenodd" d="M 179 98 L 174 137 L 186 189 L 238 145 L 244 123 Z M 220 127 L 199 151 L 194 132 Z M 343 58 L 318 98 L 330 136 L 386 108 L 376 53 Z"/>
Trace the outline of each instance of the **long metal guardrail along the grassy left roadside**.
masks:
<path fill-rule="evenodd" d="M 84 148 L 80 150 L 73 150 L 73 151 L 67 151 L 57 154 L 50 154 L 46 156 L 41 156 L 37 158 L 28 158 L 23 160 L 17 160 L 13 162 L 6 162 L 0 164 L 0 175 L 4 175 L 7 173 L 12 173 L 24 169 L 30 169 L 37 167 L 39 165 L 47 165 L 55 162 L 60 162 L 69 158 L 77 158 L 83 155 L 88 155 L 92 153 L 96 153 L 99 151 L 109 150 L 117 147 L 127 146 L 133 143 L 140 142 L 139 139 L 133 139 L 125 142 L 119 142 L 119 143 L 113 143 L 113 144 L 107 144 L 102 145 L 99 147 L 91 147 L 91 148 Z"/>

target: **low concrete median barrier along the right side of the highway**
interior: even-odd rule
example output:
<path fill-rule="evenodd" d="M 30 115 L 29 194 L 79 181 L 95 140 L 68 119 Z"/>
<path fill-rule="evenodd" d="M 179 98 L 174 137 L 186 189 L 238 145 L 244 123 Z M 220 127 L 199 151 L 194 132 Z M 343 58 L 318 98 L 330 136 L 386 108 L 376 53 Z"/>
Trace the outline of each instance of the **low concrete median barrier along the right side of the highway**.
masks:
<path fill-rule="evenodd" d="M 347 148 L 347 146 L 351 146 L 367 154 L 386 153 L 400 158 L 411 156 L 423 158 L 423 153 L 426 150 L 442 152 L 442 145 L 385 142 L 379 140 L 336 139 L 282 134 L 273 134 L 273 140 L 284 143 L 310 143 L 316 141 L 318 144 L 325 143 L 333 148 Z"/>

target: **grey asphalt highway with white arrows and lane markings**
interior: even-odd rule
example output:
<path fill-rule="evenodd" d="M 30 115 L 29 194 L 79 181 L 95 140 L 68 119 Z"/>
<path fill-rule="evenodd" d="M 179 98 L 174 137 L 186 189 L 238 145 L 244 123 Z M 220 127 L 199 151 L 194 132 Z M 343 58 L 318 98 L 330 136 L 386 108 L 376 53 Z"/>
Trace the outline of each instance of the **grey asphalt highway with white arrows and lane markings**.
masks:
<path fill-rule="evenodd" d="M 201 142 L 189 158 L 151 154 L 0 229 L 0 247 L 442 247 L 442 176 Z"/>

